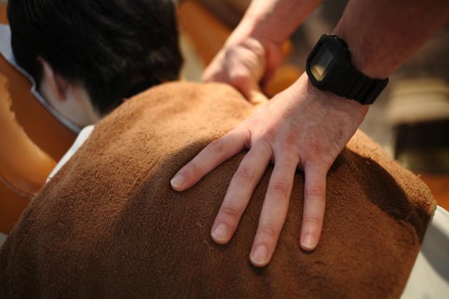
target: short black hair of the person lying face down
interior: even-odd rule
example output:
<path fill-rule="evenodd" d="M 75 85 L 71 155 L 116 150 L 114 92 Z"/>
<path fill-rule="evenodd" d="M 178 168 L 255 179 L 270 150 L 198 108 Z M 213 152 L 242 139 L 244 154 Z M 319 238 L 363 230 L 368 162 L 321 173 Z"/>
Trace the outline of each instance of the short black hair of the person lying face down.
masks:
<path fill-rule="evenodd" d="M 123 98 L 178 79 L 182 57 L 173 0 L 9 0 L 18 65 L 39 84 L 40 56 L 82 84 L 101 114 Z"/>

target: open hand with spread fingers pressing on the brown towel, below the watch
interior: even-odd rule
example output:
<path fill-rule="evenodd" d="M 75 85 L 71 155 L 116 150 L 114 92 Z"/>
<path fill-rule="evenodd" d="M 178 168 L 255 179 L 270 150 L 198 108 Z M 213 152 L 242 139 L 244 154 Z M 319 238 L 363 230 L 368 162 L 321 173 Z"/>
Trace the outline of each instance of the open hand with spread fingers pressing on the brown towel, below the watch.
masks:
<path fill-rule="evenodd" d="M 323 225 L 326 174 L 368 111 L 354 100 L 319 91 L 306 74 L 222 138 L 211 142 L 182 167 L 171 184 L 183 191 L 223 161 L 249 149 L 232 178 L 211 232 L 226 244 L 236 231 L 257 183 L 270 161 L 274 171 L 250 253 L 251 263 L 263 267 L 272 258 L 286 220 L 293 178 L 304 171 L 304 215 L 300 244 L 313 250 Z"/>

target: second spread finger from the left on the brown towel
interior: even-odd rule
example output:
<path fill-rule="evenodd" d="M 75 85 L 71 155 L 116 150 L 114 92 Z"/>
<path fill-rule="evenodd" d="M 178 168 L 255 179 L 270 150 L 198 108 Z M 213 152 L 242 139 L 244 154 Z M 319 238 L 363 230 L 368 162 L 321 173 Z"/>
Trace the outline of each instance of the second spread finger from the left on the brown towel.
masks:
<path fill-rule="evenodd" d="M 225 199 L 212 227 L 212 239 L 225 244 L 232 238 L 241 215 L 262 178 L 272 157 L 270 147 L 254 145 L 243 158 L 239 168 L 229 184 Z"/>

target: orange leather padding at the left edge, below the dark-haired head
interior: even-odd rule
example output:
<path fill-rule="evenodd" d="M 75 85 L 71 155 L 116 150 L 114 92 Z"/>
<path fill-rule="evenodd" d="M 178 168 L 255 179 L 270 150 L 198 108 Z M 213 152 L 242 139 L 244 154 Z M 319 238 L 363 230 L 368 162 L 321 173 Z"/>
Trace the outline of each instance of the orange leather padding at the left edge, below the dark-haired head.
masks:
<path fill-rule="evenodd" d="M 6 4 L 0 5 L 0 22 L 6 23 Z M 0 232 L 4 233 L 76 137 L 36 100 L 31 87 L 0 55 Z"/>

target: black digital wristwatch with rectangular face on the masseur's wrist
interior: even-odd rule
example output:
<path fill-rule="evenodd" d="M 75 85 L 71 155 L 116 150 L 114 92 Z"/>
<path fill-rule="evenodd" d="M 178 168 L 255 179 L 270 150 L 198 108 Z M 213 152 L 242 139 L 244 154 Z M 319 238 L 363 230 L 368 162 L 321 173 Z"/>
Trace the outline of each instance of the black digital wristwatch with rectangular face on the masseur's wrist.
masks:
<path fill-rule="evenodd" d="M 321 36 L 307 58 L 306 72 L 319 89 L 363 105 L 373 104 L 388 84 L 388 78 L 371 79 L 359 72 L 347 44 L 335 35 Z"/>

